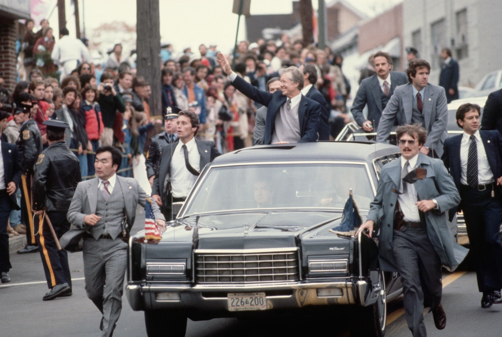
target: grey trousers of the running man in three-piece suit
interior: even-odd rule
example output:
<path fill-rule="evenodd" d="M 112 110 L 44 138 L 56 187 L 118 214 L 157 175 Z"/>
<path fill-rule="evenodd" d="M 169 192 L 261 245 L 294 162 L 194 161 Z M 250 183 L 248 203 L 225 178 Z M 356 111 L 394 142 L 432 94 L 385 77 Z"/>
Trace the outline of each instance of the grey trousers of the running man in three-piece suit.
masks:
<path fill-rule="evenodd" d="M 120 317 L 127 247 L 121 239 L 84 240 L 85 291 L 103 314 L 103 337 L 111 335 Z"/>

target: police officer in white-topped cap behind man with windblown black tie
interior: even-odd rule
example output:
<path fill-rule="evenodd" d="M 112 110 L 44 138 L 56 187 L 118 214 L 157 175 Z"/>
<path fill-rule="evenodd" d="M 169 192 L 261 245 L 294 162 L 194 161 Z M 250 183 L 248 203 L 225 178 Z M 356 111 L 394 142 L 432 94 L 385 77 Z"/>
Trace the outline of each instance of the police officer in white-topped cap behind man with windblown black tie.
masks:
<path fill-rule="evenodd" d="M 155 174 L 159 169 L 162 148 L 167 144 L 172 144 L 178 140 L 178 126 L 176 125 L 176 120 L 178 119 L 178 112 L 180 111 L 181 109 L 177 106 L 167 107 L 164 118 L 164 132 L 153 137 L 152 142 L 150 143 L 148 158 L 145 161 L 150 186 L 152 186 Z"/>

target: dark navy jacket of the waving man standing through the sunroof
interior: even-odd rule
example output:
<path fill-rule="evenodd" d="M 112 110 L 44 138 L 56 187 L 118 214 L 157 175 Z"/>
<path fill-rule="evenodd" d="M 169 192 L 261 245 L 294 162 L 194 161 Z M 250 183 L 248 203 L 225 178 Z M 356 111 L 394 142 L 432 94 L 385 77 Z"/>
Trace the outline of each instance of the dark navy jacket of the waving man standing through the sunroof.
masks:
<path fill-rule="evenodd" d="M 286 103 L 288 97 L 282 94 L 281 90 L 277 90 L 273 94 L 258 90 L 250 85 L 242 78 L 237 78 L 232 82 L 232 85 L 249 97 L 267 107 L 267 120 L 265 122 L 265 133 L 263 135 L 263 143 L 270 144 L 272 134 L 274 133 L 276 115 L 281 105 Z M 300 143 L 313 142 L 318 138 L 317 131 L 319 130 L 319 116 L 321 114 L 321 106 L 316 101 L 313 101 L 305 96 L 302 96 L 298 107 L 298 119 L 300 122 Z"/>

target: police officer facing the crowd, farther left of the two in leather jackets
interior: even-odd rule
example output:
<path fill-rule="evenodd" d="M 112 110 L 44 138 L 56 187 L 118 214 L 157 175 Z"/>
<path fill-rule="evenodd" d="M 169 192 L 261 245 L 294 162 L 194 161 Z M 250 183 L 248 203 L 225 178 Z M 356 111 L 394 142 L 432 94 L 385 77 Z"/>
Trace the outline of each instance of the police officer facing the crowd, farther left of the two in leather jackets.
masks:
<path fill-rule="evenodd" d="M 32 253 L 38 250 L 35 232 L 33 231 L 33 213 L 31 203 L 33 165 L 38 155 L 42 152 L 42 135 L 37 122 L 31 118 L 31 106 L 19 104 L 14 110 L 14 120 L 22 124 L 19 138 L 16 141 L 23 175 L 21 176 L 21 216 L 26 225 L 26 247 L 19 250 L 18 254 Z"/>

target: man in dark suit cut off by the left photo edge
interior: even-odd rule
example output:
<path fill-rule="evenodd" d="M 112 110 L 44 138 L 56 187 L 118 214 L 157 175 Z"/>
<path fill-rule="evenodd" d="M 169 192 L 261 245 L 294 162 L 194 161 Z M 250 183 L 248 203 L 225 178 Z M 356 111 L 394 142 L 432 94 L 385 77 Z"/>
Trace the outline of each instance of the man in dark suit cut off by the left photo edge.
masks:
<path fill-rule="evenodd" d="M 0 119 L 7 118 L 9 114 L 0 111 Z M 0 127 L 0 135 L 2 128 Z M 9 234 L 7 224 L 11 210 L 19 210 L 16 201 L 18 189 L 23 174 L 18 148 L 15 144 L 0 141 L 0 276 L 2 283 L 11 281 L 9 270 L 12 268 L 9 259 Z"/>

